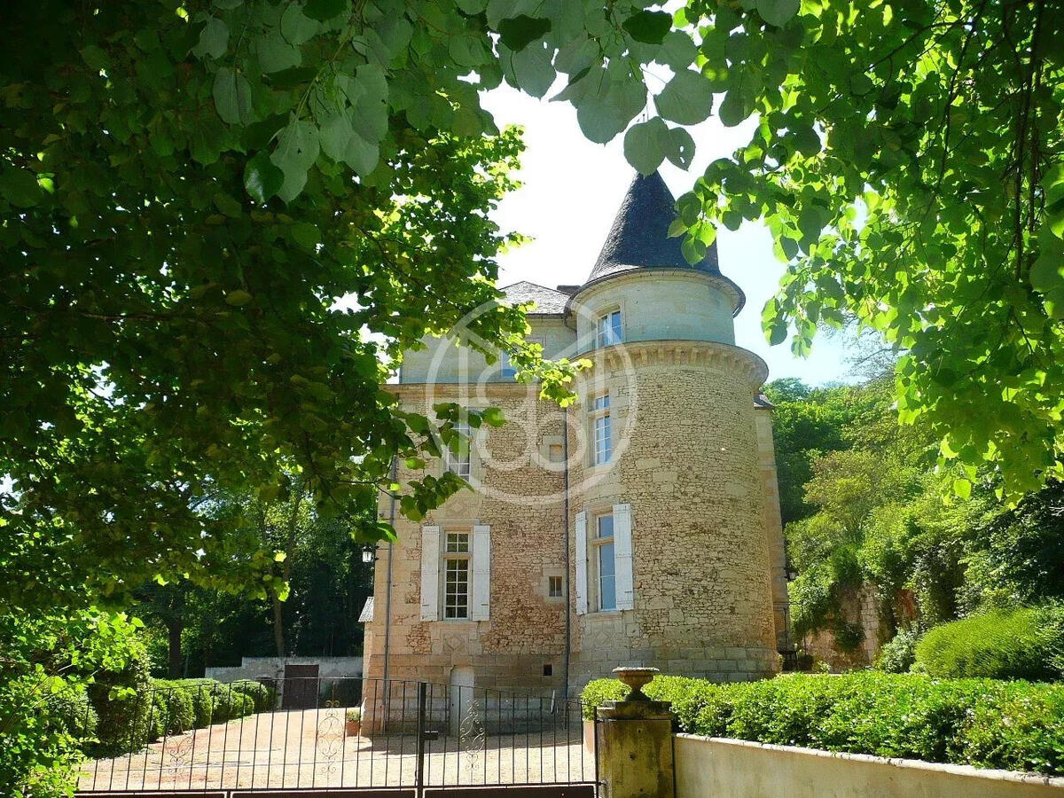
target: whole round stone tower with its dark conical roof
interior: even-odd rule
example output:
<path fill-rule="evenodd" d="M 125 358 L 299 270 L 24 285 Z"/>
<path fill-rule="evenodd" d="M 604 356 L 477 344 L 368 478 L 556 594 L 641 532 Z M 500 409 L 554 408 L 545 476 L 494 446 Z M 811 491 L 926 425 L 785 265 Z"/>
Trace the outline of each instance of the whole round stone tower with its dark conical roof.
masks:
<path fill-rule="evenodd" d="M 661 177 L 637 177 L 569 300 L 594 363 L 570 414 L 576 684 L 617 665 L 716 680 L 779 669 L 782 541 L 755 416 L 768 371 L 734 345 L 745 298 L 716 247 L 691 266 L 675 218 Z"/>

